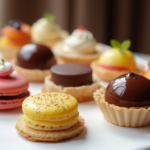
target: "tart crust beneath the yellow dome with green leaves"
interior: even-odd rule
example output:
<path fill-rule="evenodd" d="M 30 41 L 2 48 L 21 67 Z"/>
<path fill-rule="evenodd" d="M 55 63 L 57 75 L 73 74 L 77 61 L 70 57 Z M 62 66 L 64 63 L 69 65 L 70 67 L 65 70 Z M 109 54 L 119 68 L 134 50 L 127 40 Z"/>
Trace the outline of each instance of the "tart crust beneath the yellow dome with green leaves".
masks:
<path fill-rule="evenodd" d="M 129 72 L 129 71 L 117 71 L 117 70 L 104 69 L 98 66 L 97 60 L 91 63 L 91 68 L 99 79 L 107 82 L 110 82 L 116 77 Z M 142 74 L 143 71 L 144 71 L 144 66 L 142 64 L 137 64 L 137 70 L 133 72 L 137 74 Z"/>

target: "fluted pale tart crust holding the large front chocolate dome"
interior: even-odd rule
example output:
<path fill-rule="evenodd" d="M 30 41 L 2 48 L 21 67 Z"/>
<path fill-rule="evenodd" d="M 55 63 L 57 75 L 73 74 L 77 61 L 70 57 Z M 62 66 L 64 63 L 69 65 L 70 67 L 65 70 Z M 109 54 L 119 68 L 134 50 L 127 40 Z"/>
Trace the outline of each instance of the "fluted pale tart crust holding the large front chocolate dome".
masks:
<path fill-rule="evenodd" d="M 150 107 L 119 107 L 105 101 L 106 88 L 94 92 L 94 99 L 104 118 L 117 126 L 144 127 L 150 125 Z"/>

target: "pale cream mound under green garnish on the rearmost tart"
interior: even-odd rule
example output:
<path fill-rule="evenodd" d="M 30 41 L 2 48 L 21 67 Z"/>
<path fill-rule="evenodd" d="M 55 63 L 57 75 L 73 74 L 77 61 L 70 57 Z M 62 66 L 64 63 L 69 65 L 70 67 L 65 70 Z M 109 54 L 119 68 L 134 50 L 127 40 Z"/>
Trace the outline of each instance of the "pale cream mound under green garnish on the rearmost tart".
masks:
<path fill-rule="evenodd" d="M 42 36 L 46 40 L 57 39 L 60 38 L 60 27 L 53 21 L 41 18 L 32 25 L 32 36 Z"/>

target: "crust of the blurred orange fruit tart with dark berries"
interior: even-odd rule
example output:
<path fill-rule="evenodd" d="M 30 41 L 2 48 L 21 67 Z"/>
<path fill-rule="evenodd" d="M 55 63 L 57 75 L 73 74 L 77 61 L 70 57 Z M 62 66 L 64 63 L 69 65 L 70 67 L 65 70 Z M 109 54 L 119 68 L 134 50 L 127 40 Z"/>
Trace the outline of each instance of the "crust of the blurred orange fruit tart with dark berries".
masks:
<path fill-rule="evenodd" d="M 2 58 L 11 61 L 17 57 L 17 54 L 20 50 L 20 46 L 2 46 L 0 45 L 0 53 Z"/>

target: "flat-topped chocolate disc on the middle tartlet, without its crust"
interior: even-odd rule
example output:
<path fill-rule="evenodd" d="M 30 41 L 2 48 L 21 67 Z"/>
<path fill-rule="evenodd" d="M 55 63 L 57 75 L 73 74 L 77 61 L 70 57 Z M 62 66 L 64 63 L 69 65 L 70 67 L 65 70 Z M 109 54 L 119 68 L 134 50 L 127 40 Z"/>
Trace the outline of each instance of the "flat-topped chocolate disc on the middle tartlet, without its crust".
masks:
<path fill-rule="evenodd" d="M 51 68 L 51 81 L 56 85 L 74 87 L 92 83 L 92 69 L 75 63 L 55 65 Z"/>

